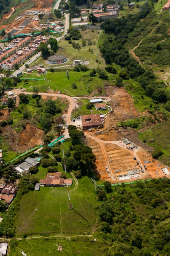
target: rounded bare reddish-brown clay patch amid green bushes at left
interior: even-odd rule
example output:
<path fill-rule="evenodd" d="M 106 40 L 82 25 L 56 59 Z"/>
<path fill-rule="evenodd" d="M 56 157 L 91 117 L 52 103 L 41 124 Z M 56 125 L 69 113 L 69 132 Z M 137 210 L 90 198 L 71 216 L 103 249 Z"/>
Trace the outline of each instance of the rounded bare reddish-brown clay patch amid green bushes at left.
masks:
<path fill-rule="evenodd" d="M 20 150 L 29 150 L 37 145 L 42 145 L 44 139 L 43 130 L 33 126 L 32 124 L 26 124 L 26 129 L 21 133 L 21 138 L 18 143 Z"/>

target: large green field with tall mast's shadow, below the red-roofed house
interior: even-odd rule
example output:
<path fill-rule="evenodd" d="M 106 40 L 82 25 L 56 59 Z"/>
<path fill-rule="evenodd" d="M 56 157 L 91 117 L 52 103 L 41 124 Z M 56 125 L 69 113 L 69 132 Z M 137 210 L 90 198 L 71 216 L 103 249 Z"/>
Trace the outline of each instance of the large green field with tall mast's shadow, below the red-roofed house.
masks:
<path fill-rule="evenodd" d="M 16 236 L 91 233 L 97 219 L 95 207 L 98 205 L 94 185 L 87 177 L 78 182 L 77 190 L 74 185 L 69 188 L 74 210 L 68 208 L 67 188 L 41 187 L 40 191 L 30 191 L 24 195 L 15 223 Z"/>

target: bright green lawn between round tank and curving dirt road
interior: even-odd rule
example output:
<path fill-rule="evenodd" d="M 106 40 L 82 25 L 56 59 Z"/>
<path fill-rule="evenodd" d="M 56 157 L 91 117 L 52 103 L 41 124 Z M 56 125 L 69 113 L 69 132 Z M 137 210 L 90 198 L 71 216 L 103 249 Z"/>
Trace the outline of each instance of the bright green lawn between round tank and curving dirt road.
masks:
<path fill-rule="evenodd" d="M 57 70 L 54 73 L 47 72 L 44 81 L 38 80 L 29 80 L 28 84 L 24 83 L 24 80 L 21 80 L 21 83 L 18 84 L 18 87 L 26 88 L 28 92 L 32 92 L 33 88 L 30 86 L 37 86 L 40 92 L 46 92 L 50 89 L 54 91 L 60 91 L 61 93 L 66 93 L 70 96 L 83 96 L 89 95 L 92 91 L 96 90 L 97 87 L 101 87 L 104 92 L 105 85 L 114 85 L 115 84 L 115 75 L 109 74 L 108 80 L 102 80 L 97 76 L 91 77 L 90 70 L 86 72 L 76 72 L 73 70 L 69 71 L 69 79 L 67 79 L 66 71 Z M 31 77 L 34 74 L 30 75 Z M 37 75 L 35 75 L 38 78 Z M 23 78 L 29 77 L 28 74 L 23 74 Z M 40 78 L 40 77 L 39 77 Z M 51 83 L 49 82 L 51 80 Z M 77 84 L 77 89 L 71 87 L 72 83 Z"/>

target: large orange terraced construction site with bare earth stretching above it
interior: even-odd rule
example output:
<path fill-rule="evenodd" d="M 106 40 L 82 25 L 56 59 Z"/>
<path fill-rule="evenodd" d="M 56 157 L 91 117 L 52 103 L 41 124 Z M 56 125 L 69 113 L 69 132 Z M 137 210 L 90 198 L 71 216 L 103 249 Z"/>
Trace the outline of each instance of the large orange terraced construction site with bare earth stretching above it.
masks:
<path fill-rule="evenodd" d="M 123 88 L 108 86 L 112 111 L 105 116 L 103 129 L 85 131 L 86 143 L 96 157 L 96 176 L 111 183 L 131 182 L 151 178 L 169 177 L 170 172 L 159 161 L 152 158 L 152 148 L 142 143 L 135 129 L 124 130 L 116 126 L 144 113 L 138 113 L 129 93 Z M 168 174 L 169 173 L 169 174 Z"/>

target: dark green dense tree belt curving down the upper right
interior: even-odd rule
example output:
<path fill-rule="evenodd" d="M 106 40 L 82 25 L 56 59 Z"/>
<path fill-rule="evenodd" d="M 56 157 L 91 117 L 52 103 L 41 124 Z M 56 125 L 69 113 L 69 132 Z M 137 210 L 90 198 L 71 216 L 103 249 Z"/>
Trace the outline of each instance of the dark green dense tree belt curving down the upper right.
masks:
<path fill-rule="evenodd" d="M 129 38 L 138 26 L 141 19 L 147 17 L 149 13 L 156 15 L 149 5 L 137 15 L 129 15 L 121 19 L 107 20 L 103 24 L 105 40 L 100 45 L 107 64 L 115 62 L 126 72 L 126 79 L 136 79 L 147 96 L 151 97 L 156 103 L 166 103 L 169 94 L 165 89 L 167 85 L 163 81 L 157 81 L 152 69 L 144 69 L 129 53 Z"/>

